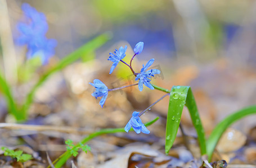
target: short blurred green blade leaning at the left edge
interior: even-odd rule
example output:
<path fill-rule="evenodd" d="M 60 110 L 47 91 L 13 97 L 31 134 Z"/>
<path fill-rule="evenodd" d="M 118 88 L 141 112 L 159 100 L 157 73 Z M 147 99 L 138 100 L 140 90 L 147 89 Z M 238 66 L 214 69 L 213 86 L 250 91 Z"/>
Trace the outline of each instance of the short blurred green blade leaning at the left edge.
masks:
<path fill-rule="evenodd" d="M 3 96 L 5 96 L 5 100 L 7 102 L 7 108 L 9 113 L 15 116 L 16 120 L 22 120 L 25 116 L 22 113 L 19 113 L 17 110 L 17 106 L 14 101 L 14 96 L 12 96 L 11 88 L 6 82 L 5 78 L 0 74 L 0 91 L 2 92 Z"/>

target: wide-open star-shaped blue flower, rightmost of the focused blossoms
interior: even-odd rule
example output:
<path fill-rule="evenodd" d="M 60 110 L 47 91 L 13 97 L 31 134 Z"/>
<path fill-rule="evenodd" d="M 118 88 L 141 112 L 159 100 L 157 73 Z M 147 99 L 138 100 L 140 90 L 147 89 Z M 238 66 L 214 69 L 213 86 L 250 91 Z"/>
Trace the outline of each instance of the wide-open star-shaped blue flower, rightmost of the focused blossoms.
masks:
<path fill-rule="evenodd" d="M 154 74 L 159 74 L 160 70 L 159 69 L 150 69 L 149 71 L 146 71 L 147 68 L 149 68 L 153 63 L 154 63 L 155 59 L 150 59 L 149 62 L 146 63 L 146 66 L 143 65 L 143 67 L 141 68 L 141 73 L 137 74 L 135 80 L 139 80 L 138 81 L 138 89 L 140 91 L 143 90 L 143 84 L 147 87 L 149 87 L 150 89 L 154 89 L 154 87 L 150 84 L 150 79 L 151 77 L 154 77 Z"/>

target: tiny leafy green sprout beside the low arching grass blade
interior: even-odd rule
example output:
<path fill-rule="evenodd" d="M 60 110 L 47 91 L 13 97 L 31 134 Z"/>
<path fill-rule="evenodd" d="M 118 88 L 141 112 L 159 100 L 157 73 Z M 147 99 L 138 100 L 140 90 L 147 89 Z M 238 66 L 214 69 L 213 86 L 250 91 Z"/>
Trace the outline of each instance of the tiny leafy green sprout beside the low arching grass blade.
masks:
<path fill-rule="evenodd" d="M 66 146 L 66 150 L 73 155 L 74 157 L 76 157 L 78 155 L 78 150 L 81 148 L 84 152 L 88 152 L 91 151 L 91 147 L 89 147 L 87 144 L 84 145 L 83 143 L 79 143 L 77 146 L 75 146 L 75 144 L 73 144 L 73 141 L 71 139 L 68 139 L 67 141 L 65 141 Z"/>

